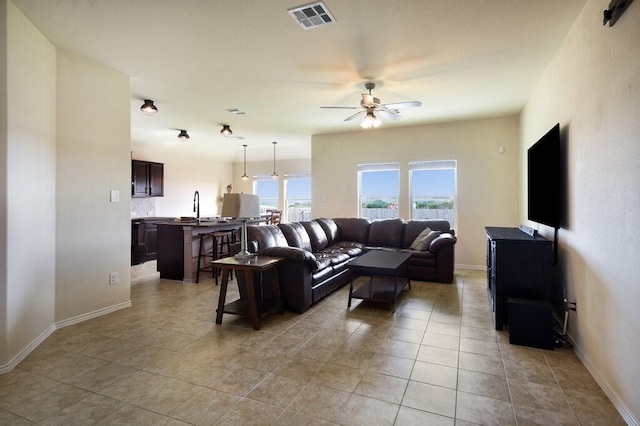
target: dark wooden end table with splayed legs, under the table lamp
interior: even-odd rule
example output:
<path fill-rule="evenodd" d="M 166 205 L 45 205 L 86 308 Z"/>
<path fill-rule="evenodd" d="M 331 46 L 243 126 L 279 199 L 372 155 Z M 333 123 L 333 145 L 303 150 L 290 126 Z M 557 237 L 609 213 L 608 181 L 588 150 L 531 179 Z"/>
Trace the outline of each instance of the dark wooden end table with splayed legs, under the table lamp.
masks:
<path fill-rule="evenodd" d="M 282 257 L 256 256 L 247 260 L 236 260 L 233 257 L 225 257 L 211 262 L 214 268 L 222 269 L 222 284 L 220 287 L 220 297 L 218 298 L 216 324 L 222 324 L 223 313 L 243 315 L 251 318 L 254 330 L 260 330 L 261 317 L 275 312 L 282 314 L 282 296 L 280 295 L 280 281 L 278 279 L 278 268 L 276 268 L 276 266 L 284 260 Z M 225 305 L 229 271 L 236 271 L 236 279 L 238 274 L 244 271 L 245 282 L 247 284 L 247 297 L 246 299 L 240 298 Z M 264 301 L 256 300 L 253 273 L 265 271 L 271 271 L 273 274 L 273 291 L 276 296 L 275 305 L 268 305 Z"/>

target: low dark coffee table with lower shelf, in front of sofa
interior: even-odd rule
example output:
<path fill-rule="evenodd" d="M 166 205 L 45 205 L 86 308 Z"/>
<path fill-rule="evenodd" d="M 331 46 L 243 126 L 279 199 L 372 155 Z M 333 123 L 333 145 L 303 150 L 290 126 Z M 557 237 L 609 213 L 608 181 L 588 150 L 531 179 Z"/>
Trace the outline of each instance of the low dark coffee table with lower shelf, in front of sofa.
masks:
<path fill-rule="evenodd" d="M 349 262 L 347 268 L 351 269 L 351 287 L 348 307 L 351 307 L 352 298 L 372 300 L 393 303 L 395 313 L 398 294 L 406 285 L 411 289 L 407 264 L 410 257 L 411 253 L 407 252 L 371 250 Z M 400 277 L 403 267 L 407 271 L 406 278 Z M 369 280 L 354 290 L 354 280 L 360 275 L 368 275 Z"/>

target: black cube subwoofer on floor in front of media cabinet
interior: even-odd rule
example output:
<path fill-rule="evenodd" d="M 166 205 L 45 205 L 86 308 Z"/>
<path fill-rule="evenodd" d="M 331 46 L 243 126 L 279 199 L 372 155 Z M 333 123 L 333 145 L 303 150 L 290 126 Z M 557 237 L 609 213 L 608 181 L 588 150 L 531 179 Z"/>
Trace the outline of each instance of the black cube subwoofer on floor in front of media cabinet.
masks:
<path fill-rule="evenodd" d="M 507 305 L 509 343 L 553 350 L 553 311 L 549 302 L 510 297 Z"/>

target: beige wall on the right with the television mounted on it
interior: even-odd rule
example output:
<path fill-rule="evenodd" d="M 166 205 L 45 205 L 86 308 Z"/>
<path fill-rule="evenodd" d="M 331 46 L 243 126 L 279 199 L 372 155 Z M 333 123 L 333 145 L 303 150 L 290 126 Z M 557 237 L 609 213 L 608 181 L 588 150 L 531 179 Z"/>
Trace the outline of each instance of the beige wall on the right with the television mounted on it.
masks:
<path fill-rule="evenodd" d="M 613 27 L 588 1 L 522 114 L 521 161 L 560 122 L 567 221 L 558 276 L 577 314 L 576 350 L 631 424 L 640 419 L 640 7 Z M 520 173 L 526 211 L 526 169 Z M 521 213 L 524 221 L 525 214 Z M 541 227 L 552 237 L 552 230 Z"/>

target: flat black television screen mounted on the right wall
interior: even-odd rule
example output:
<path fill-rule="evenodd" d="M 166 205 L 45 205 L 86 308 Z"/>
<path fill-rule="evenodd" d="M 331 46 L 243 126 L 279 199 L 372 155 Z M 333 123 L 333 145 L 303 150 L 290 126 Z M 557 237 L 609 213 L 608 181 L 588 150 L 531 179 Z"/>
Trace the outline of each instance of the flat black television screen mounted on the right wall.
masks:
<path fill-rule="evenodd" d="M 560 124 L 527 151 L 528 219 L 560 227 Z"/>

